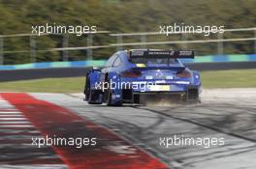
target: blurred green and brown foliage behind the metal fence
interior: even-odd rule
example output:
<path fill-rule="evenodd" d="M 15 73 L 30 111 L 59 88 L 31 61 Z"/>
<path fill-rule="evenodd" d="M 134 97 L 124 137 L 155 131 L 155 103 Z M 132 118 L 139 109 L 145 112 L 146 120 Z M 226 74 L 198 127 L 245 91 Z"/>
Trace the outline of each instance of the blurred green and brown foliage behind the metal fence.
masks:
<path fill-rule="evenodd" d="M 224 25 L 225 28 L 255 27 L 255 0 L 0 0 L 0 32 L 2 35 L 31 33 L 32 25 L 96 25 L 97 30 L 118 32 L 158 31 L 159 25 L 184 23 L 188 25 Z M 229 33 L 225 38 L 233 38 Z M 254 33 L 243 33 L 251 38 Z M 241 38 L 240 37 L 240 38 Z M 216 36 L 210 37 L 216 39 Z M 152 40 L 151 40 L 152 39 Z M 181 40 L 180 37 L 157 37 L 150 41 Z M 188 40 L 205 39 L 204 36 L 189 36 Z M 115 43 L 116 38 L 108 34 L 97 35 L 93 45 Z M 37 50 L 62 46 L 62 37 L 37 37 Z M 138 40 L 140 42 L 140 39 Z M 137 42 L 138 42 L 137 41 Z M 69 46 L 86 46 L 86 36 L 69 35 Z M 134 40 L 124 40 L 134 42 Z M 253 53 L 254 42 L 225 42 L 225 53 Z M 152 47 L 152 46 L 147 46 Z M 154 47 L 180 48 L 179 45 Z M 199 55 L 216 54 L 216 44 L 191 44 Z M 30 61 L 29 38 L 4 39 L 5 64 Z M 94 57 L 109 57 L 116 48 L 95 50 Z M 70 60 L 86 59 L 86 51 L 70 51 Z M 62 52 L 37 53 L 38 61 L 60 61 Z"/>

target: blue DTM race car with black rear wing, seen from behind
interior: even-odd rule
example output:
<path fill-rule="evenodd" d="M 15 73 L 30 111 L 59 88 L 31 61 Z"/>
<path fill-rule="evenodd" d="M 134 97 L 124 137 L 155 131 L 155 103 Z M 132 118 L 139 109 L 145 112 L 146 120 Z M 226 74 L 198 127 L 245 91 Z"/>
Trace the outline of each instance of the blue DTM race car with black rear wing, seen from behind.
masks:
<path fill-rule="evenodd" d="M 132 49 L 117 51 L 101 70 L 86 73 L 84 95 L 90 104 L 143 104 L 147 99 L 199 102 L 200 74 L 180 58 L 194 58 L 194 50 Z"/>

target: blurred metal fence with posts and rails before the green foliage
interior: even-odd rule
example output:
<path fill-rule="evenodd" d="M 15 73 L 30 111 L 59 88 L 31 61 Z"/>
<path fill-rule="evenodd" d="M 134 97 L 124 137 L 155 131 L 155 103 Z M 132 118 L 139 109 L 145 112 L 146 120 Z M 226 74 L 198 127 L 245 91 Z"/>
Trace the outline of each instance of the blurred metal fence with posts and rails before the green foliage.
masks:
<path fill-rule="evenodd" d="M 188 43 L 208 43 L 208 42 L 216 42 L 217 43 L 217 53 L 219 55 L 223 55 L 223 42 L 248 42 L 254 41 L 254 53 L 256 53 L 256 27 L 253 28 L 239 28 L 239 29 L 226 29 L 225 32 L 247 32 L 247 31 L 254 31 L 254 37 L 249 38 L 234 38 L 234 39 L 224 39 L 223 34 L 218 34 L 217 39 L 212 40 L 193 40 L 187 41 L 187 33 L 178 32 L 175 34 L 181 34 L 182 40 L 181 41 L 164 41 L 164 42 L 147 42 L 147 36 L 156 36 L 161 35 L 160 32 L 141 32 L 141 33 L 118 33 L 118 34 L 110 34 L 109 31 L 98 31 L 97 34 L 107 34 L 110 38 L 115 37 L 116 43 L 108 43 L 102 45 L 93 45 L 93 38 L 94 34 L 88 34 L 86 37 L 86 46 L 77 46 L 77 47 L 69 47 L 68 36 L 66 34 L 43 34 L 42 36 L 61 36 L 62 37 L 62 47 L 56 48 L 46 48 L 46 49 L 36 49 L 36 34 L 15 34 L 15 35 L 0 35 L 0 65 L 4 64 L 5 54 L 12 54 L 12 53 L 30 53 L 30 62 L 35 63 L 36 55 L 38 52 L 45 52 L 45 51 L 62 51 L 62 61 L 69 60 L 69 53 L 68 51 L 71 50 L 85 50 L 87 54 L 87 59 L 93 59 L 93 49 L 99 48 L 109 48 L 109 47 L 116 47 L 117 49 L 123 48 L 123 46 L 141 46 L 146 47 L 146 45 L 162 45 L 162 44 L 183 44 L 183 48 L 186 48 Z M 123 42 L 124 37 L 140 37 L 140 42 Z M 5 51 L 4 50 L 4 40 L 7 38 L 14 38 L 14 37 L 29 37 L 29 45 L 30 50 L 19 50 L 19 51 Z"/>

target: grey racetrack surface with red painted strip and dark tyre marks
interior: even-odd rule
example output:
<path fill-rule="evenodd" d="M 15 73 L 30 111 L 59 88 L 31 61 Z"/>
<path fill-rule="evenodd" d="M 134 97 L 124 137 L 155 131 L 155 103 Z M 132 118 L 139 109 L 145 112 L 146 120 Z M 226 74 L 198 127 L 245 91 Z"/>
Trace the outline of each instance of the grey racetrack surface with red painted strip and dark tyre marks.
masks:
<path fill-rule="evenodd" d="M 201 104 L 88 105 L 82 95 L 0 94 L 0 168 L 256 168 L 256 89 L 204 90 Z M 32 145 L 32 137 L 96 137 L 95 146 Z M 224 138 L 224 145 L 160 138 Z"/>

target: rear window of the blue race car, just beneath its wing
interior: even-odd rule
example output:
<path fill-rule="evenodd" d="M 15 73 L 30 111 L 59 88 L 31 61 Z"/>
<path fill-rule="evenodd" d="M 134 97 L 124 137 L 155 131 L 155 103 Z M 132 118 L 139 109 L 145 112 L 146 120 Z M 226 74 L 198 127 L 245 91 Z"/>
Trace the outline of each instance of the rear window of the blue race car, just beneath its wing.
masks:
<path fill-rule="evenodd" d="M 172 58 L 146 58 L 146 57 L 137 57 L 130 58 L 130 62 L 134 64 L 146 64 L 146 65 L 178 65 L 179 62 L 177 59 Z"/>

